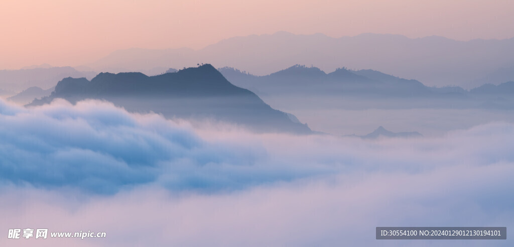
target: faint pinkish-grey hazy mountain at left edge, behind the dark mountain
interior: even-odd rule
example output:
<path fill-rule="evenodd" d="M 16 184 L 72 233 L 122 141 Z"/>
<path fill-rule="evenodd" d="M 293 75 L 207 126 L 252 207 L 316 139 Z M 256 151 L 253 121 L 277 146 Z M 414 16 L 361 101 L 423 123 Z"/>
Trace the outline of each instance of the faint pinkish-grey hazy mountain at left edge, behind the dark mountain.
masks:
<path fill-rule="evenodd" d="M 0 70 L 0 89 L 21 92 L 29 87 L 50 88 L 66 77 L 93 78 L 95 72 L 78 71 L 72 67 L 43 67 Z"/>

